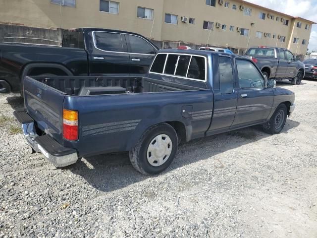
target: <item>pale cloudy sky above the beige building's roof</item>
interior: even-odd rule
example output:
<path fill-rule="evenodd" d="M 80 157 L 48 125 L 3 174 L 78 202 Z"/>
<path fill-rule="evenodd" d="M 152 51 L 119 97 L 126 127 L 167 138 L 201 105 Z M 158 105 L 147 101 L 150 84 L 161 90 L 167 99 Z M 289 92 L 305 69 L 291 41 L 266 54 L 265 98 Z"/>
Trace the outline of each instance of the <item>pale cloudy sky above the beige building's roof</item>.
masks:
<path fill-rule="evenodd" d="M 247 0 L 249 2 L 283 12 L 291 16 L 300 16 L 317 22 L 317 0 Z M 309 51 L 317 51 L 317 25 L 313 25 L 308 45 Z"/>

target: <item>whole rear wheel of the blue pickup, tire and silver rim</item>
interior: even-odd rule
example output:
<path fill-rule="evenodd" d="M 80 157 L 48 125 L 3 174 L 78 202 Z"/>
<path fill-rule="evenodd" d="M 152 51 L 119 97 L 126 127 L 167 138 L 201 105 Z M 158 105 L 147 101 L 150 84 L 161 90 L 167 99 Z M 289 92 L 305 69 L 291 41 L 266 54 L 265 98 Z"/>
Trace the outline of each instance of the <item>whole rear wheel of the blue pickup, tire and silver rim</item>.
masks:
<path fill-rule="evenodd" d="M 151 126 L 129 152 L 131 164 L 141 174 L 158 174 L 172 163 L 177 146 L 177 133 L 171 125 Z"/>

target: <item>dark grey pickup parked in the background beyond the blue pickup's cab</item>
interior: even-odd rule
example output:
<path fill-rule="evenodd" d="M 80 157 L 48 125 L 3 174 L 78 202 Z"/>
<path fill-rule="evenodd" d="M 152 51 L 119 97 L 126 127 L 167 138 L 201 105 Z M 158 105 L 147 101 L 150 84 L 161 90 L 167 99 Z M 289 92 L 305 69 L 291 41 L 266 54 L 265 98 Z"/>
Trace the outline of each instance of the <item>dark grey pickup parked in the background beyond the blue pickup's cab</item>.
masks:
<path fill-rule="evenodd" d="M 300 84 L 305 76 L 304 64 L 287 49 L 259 46 L 250 48 L 245 55 L 259 66 L 265 78 Z"/>

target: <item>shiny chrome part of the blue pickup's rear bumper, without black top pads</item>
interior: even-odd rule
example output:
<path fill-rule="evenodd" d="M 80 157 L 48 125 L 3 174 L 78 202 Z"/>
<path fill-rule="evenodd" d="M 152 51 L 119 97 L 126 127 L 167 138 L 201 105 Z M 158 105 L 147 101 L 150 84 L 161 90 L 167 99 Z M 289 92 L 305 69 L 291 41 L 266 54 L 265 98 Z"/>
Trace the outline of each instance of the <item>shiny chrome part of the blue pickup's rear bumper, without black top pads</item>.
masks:
<path fill-rule="evenodd" d="M 33 150 L 42 153 L 54 166 L 65 167 L 77 162 L 77 153 L 54 156 L 44 149 L 43 145 L 40 145 L 36 141 L 36 138 L 39 135 L 36 133 L 34 122 L 22 124 L 22 130 L 27 143 L 33 148 Z"/>

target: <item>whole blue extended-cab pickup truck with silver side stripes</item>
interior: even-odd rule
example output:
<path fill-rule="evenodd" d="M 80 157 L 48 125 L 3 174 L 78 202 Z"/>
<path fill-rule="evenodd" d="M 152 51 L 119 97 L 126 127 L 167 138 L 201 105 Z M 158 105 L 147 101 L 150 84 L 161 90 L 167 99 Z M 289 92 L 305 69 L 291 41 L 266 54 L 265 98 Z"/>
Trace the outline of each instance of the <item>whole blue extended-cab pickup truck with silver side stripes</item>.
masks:
<path fill-rule="evenodd" d="M 31 147 L 56 167 L 129 151 L 142 174 L 165 170 L 180 142 L 251 125 L 279 133 L 295 95 L 247 57 L 162 50 L 142 80 L 122 76 L 26 76 L 14 115 Z"/>

